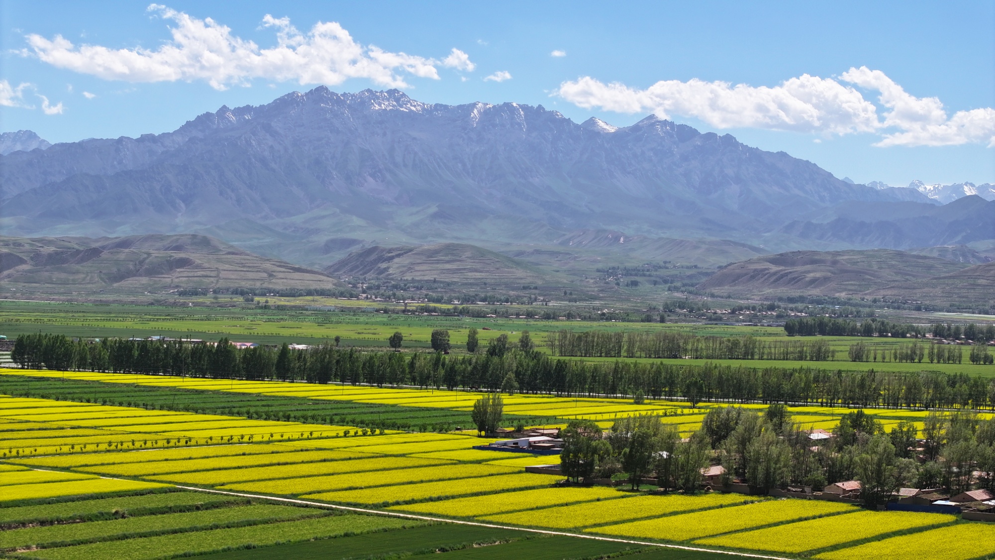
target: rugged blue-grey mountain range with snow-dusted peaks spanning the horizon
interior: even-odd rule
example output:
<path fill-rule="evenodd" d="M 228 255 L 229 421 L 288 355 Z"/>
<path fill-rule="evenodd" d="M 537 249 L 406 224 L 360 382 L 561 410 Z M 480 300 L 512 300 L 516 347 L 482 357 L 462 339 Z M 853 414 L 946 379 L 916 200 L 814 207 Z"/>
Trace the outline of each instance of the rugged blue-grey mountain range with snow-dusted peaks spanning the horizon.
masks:
<path fill-rule="evenodd" d="M 654 116 L 617 128 L 541 106 L 319 87 L 137 139 L 29 149 L 22 133 L 4 137 L 0 155 L 8 235 L 195 232 L 312 267 L 372 246 L 585 256 L 625 245 L 564 242 L 578 231 L 635 240 L 626 249 L 635 259 L 680 249 L 709 265 L 995 239 L 983 189 L 937 205 L 918 187 L 854 184 Z"/>

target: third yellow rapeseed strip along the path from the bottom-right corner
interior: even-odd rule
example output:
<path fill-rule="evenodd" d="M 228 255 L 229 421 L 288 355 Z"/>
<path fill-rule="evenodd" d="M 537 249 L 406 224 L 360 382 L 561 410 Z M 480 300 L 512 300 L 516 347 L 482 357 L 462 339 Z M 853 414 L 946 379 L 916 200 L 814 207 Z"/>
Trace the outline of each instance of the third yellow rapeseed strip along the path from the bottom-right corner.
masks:
<path fill-rule="evenodd" d="M 795 519 L 857 511 L 853 505 L 781 499 L 585 529 L 606 535 L 684 541 Z"/>

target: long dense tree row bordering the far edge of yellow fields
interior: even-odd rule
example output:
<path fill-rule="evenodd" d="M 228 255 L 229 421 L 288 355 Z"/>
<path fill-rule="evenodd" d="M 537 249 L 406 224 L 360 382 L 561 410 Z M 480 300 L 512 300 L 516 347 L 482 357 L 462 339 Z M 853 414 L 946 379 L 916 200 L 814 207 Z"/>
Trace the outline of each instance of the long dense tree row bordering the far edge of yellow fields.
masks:
<path fill-rule="evenodd" d="M 439 336 L 441 341 L 442 337 Z M 418 386 L 578 397 L 701 402 L 802 403 L 891 408 L 995 407 L 995 380 L 940 372 L 843 372 L 812 367 L 754 368 L 706 362 L 589 363 L 550 357 L 501 335 L 469 355 L 364 352 L 333 343 L 309 349 L 236 349 L 228 339 L 194 343 L 154 339 L 71 340 L 18 337 L 11 359 L 23 368 L 89 370 L 216 379 Z"/>

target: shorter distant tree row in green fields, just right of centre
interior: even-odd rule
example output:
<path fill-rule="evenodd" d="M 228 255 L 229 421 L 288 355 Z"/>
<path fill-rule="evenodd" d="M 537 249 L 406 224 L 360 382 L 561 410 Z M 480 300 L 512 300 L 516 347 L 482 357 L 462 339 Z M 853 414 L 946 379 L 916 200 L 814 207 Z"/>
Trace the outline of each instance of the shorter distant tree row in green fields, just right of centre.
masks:
<path fill-rule="evenodd" d="M 765 341 L 742 337 L 697 336 L 690 333 L 654 333 L 560 330 L 546 335 L 554 356 L 581 358 L 692 358 L 697 360 L 791 360 L 824 362 L 836 359 L 829 343 Z"/>

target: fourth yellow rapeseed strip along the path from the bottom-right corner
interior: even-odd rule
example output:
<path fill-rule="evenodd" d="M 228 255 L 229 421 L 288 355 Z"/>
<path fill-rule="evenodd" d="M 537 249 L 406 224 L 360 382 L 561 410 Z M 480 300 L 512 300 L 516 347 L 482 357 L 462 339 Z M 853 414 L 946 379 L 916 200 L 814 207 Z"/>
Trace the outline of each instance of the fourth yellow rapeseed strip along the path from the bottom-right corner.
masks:
<path fill-rule="evenodd" d="M 623 493 L 623 495 L 625 495 Z M 631 501 L 630 501 L 631 500 Z M 682 494 L 667 494 L 660 496 L 638 495 L 625 497 L 620 501 L 579 503 L 561 507 L 550 507 L 534 511 L 505 513 L 484 517 L 487 521 L 511 523 L 552 529 L 576 529 L 589 525 L 601 525 L 666 515 L 677 511 L 689 511 L 721 505 L 738 505 L 754 498 L 740 494 L 705 494 L 686 496 Z"/>

